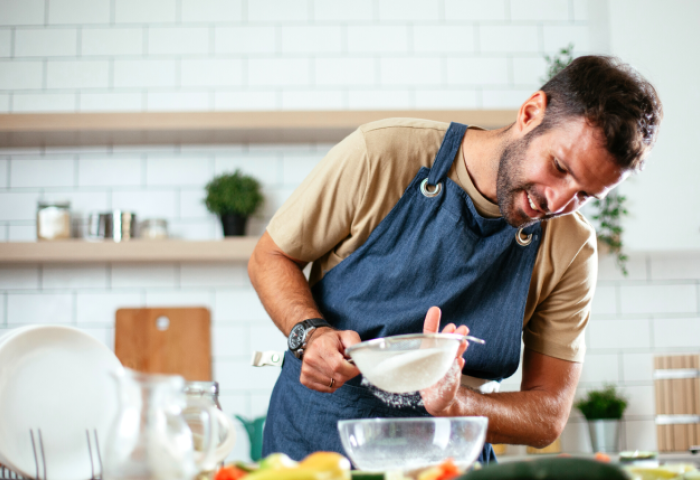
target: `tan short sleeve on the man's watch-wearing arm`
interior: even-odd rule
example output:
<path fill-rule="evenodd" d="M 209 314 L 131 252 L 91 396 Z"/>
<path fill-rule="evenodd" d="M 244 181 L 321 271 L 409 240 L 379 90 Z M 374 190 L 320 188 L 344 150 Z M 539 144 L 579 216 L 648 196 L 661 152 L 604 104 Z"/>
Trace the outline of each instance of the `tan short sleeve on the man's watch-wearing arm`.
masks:
<path fill-rule="evenodd" d="M 317 260 L 350 235 L 367 176 L 367 148 L 356 130 L 314 167 L 272 217 L 267 232 L 290 257 Z"/>

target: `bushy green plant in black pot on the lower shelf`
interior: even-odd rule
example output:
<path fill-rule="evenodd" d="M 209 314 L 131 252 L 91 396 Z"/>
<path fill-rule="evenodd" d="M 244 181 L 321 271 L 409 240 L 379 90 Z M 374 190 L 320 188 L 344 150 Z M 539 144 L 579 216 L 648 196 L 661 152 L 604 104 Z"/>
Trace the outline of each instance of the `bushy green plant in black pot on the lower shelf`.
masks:
<path fill-rule="evenodd" d="M 214 177 L 206 191 L 204 203 L 221 218 L 224 236 L 245 235 L 248 217 L 263 203 L 260 183 L 236 170 Z"/>

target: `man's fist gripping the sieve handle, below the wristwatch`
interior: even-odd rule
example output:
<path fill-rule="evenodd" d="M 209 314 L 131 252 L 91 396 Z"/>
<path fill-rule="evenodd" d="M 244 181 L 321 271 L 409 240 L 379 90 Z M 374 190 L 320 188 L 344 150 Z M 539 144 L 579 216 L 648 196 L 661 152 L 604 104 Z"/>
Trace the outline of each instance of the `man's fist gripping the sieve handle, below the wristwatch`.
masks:
<path fill-rule="evenodd" d="M 359 375 L 357 367 L 345 359 L 345 349 L 359 342 L 360 336 L 352 330 L 321 327 L 311 332 L 302 357 L 299 378 L 302 385 L 317 392 L 333 393 Z"/>

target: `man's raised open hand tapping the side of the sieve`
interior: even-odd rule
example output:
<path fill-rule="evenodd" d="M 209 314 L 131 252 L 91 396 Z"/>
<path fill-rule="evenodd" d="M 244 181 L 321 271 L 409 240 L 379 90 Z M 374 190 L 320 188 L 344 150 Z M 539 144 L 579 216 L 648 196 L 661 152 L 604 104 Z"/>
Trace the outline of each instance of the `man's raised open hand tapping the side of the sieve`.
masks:
<path fill-rule="evenodd" d="M 440 317 L 442 312 L 438 307 L 431 307 L 428 314 L 425 316 L 423 324 L 423 333 L 436 333 L 440 329 Z M 459 328 L 454 323 L 445 326 L 442 333 L 457 333 L 459 335 L 468 335 L 469 329 L 462 325 Z M 457 392 L 461 385 L 462 367 L 464 367 L 464 358 L 462 355 L 467 350 L 468 343 L 466 340 L 457 350 L 455 361 L 447 372 L 447 374 L 438 383 L 432 387 L 421 390 L 420 394 L 423 397 L 423 404 L 429 414 L 433 416 L 449 415 L 450 407 L 457 400 Z"/>

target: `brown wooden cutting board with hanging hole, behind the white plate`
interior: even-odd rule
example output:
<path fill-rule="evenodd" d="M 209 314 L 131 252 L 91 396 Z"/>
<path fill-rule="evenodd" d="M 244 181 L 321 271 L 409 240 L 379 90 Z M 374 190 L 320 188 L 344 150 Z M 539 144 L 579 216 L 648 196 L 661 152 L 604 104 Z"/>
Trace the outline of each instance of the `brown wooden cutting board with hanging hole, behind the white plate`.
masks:
<path fill-rule="evenodd" d="M 125 367 L 211 380 L 211 320 L 200 308 L 120 308 L 114 351 Z"/>

